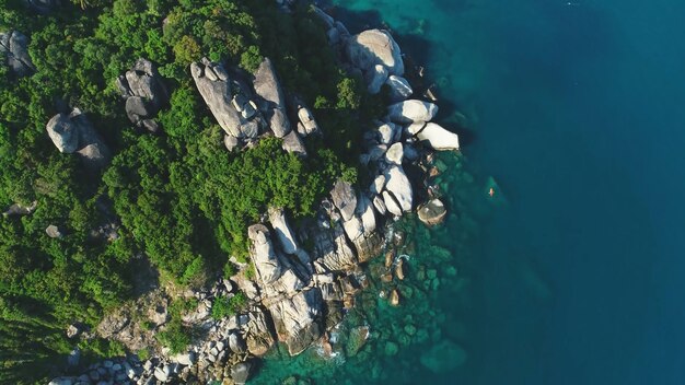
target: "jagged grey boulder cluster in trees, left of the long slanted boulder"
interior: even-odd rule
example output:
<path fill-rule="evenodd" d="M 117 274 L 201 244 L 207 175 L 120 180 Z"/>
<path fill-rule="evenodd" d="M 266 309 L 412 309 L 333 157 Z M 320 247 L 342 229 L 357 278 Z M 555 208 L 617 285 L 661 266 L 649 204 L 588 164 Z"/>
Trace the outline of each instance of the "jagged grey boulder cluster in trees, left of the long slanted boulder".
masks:
<path fill-rule="evenodd" d="M 153 119 L 160 108 L 169 102 L 169 93 L 154 65 L 138 59 L 130 71 L 116 80 L 121 97 L 126 100 L 126 115 L 137 127 L 150 132 L 159 130 Z"/>

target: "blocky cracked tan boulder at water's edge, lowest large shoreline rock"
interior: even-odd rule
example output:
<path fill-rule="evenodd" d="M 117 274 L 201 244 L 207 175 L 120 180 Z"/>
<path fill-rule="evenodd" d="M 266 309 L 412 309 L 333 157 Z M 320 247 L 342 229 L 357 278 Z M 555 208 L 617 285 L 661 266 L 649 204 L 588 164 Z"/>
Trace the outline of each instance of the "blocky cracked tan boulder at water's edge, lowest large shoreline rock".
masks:
<path fill-rule="evenodd" d="M 318 288 L 300 291 L 270 308 L 279 340 L 286 342 L 290 355 L 301 353 L 321 338 L 323 299 Z"/>

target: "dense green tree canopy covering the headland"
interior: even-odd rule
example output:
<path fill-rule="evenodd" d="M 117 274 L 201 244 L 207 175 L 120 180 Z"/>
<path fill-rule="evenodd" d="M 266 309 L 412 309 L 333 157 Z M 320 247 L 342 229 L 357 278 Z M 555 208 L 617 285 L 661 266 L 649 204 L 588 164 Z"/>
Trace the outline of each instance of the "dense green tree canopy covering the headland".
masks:
<path fill-rule="evenodd" d="M 37 202 L 31 215 L 0 219 L 0 382 L 43 381 L 77 345 L 84 357 L 120 353 L 106 341 L 70 340 L 65 329 L 94 327 L 135 295 L 140 260 L 176 284 L 202 284 L 213 271 L 233 271 L 229 256 L 244 258 L 246 224 L 267 205 L 307 215 L 335 178 L 356 178 L 360 116 L 381 104 L 336 67 L 306 8 L 286 16 L 274 3 L 81 0 L 40 15 L 0 0 L 0 31 L 30 36 L 36 67 L 16 79 L 0 65 L 0 208 Z M 324 131 L 307 143 L 310 158 L 282 152 L 276 139 L 227 152 L 188 73 L 202 56 L 246 72 L 270 57 Z M 172 91 L 158 136 L 131 127 L 114 82 L 139 57 L 159 66 Z M 66 107 L 84 110 L 114 150 L 102 173 L 50 142 L 45 125 Z M 93 233 L 111 222 L 120 224 L 115 240 Z M 65 235 L 46 236 L 49 224 Z"/>

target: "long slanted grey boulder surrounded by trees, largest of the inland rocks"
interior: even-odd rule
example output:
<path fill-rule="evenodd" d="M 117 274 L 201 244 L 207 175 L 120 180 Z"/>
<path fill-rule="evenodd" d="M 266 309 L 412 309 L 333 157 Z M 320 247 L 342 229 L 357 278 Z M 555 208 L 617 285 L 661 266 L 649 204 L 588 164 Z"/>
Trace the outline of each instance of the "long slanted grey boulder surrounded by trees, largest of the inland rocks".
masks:
<path fill-rule="evenodd" d="M 232 96 L 231 89 L 237 83 L 230 81 L 222 65 L 204 58 L 200 62 L 190 65 L 190 73 L 209 110 L 228 135 L 239 139 L 257 136 L 259 122 L 258 119 L 251 119 L 254 114 L 249 115 L 249 101 L 241 93 Z"/>

